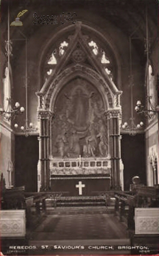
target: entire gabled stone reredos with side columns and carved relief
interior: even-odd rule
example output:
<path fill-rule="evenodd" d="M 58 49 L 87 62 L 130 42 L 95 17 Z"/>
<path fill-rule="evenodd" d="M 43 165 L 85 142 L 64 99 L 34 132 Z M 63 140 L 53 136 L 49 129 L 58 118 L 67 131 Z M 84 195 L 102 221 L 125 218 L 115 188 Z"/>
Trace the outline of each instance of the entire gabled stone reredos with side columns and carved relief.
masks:
<path fill-rule="evenodd" d="M 105 166 L 101 166 L 100 169 L 98 166 L 87 169 L 87 166 L 81 167 L 78 163 L 75 168 L 71 165 L 69 169 L 68 166 L 64 166 L 60 170 L 58 165 L 53 174 L 68 175 L 68 172 L 76 172 L 77 175 L 81 173 L 92 175 L 95 172 L 96 174 L 98 172 L 98 175 L 107 174 L 111 179 L 111 186 L 119 189 L 121 186 L 119 132 L 121 91 L 109 79 L 101 63 L 84 41 L 81 24 L 77 26 L 73 42 L 74 44 L 68 47 L 54 72 L 37 93 L 40 125 L 38 189 L 49 189 L 52 165 L 56 166 L 59 161 L 64 162 L 65 165 L 65 158 L 77 162 L 78 156 L 83 160 L 87 157 L 88 167 L 91 167 L 89 158 L 98 160 L 102 165 L 105 163 Z M 85 58 L 82 57 L 80 61 L 78 58 L 78 61 L 74 60 L 70 64 L 72 55 L 79 50 Z M 84 62 L 86 58 L 89 65 Z M 97 107 L 97 98 L 95 99 L 97 95 L 101 109 Z M 60 102 L 59 99 L 62 99 L 62 108 L 57 104 Z M 79 106 L 78 109 L 76 105 Z M 74 109 L 77 115 L 73 113 Z M 63 126 L 65 128 L 61 128 Z M 67 139 L 70 139 L 68 143 L 66 130 L 69 134 Z M 71 137 L 76 140 L 74 149 L 72 149 Z M 94 145 L 92 145 L 93 140 Z M 53 150 L 55 143 L 58 144 L 56 151 Z M 58 158 L 57 163 L 55 158 Z"/>

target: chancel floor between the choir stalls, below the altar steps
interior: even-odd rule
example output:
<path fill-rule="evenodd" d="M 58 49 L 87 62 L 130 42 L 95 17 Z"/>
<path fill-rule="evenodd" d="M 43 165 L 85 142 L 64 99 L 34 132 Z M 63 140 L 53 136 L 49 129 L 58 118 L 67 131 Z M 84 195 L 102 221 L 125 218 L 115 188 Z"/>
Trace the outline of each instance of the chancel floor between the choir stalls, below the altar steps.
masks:
<path fill-rule="evenodd" d="M 104 207 L 56 209 L 32 232 L 32 240 L 129 239 L 126 225 Z"/>

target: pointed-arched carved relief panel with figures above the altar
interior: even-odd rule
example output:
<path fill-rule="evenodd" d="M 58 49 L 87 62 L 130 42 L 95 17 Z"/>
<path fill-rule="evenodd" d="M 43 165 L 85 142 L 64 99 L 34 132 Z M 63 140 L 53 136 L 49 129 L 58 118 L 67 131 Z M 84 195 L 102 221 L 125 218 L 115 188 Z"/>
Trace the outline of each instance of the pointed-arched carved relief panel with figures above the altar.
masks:
<path fill-rule="evenodd" d="M 106 157 L 107 119 L 98 90 L 85 79 L 66 84 L 55 102 L 51 144 L 54 157 Z"/>

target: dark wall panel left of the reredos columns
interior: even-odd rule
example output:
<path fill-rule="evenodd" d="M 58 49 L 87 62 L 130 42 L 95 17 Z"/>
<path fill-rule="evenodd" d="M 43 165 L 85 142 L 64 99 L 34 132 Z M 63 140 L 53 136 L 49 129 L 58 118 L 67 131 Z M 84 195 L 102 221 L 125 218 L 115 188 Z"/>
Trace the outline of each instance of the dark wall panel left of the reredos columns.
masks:
<path fill-rule="evenodd" d="M 38 137 L 15 136 L 15 186 L 37 191 Z"/>

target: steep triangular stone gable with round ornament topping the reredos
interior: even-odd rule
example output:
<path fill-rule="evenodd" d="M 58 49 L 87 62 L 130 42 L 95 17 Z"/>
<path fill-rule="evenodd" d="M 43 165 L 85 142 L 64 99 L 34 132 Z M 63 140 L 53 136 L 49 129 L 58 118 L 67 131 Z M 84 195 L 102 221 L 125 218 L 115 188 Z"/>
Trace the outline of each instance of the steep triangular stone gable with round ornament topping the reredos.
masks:
<path fill-rule="evenodd" d="M 96 77 L 97 80 L 100 80 L 101 78 L 99 76 L 101 76 L 113 94 L 118 92 L 116 85 L 109 78 L 104 66 L 99 60 L 101 53 L 98 52 L 99 56 L 95 56 L 88 44 L 87 36 L 82 34 L 81 28 L 82 23 L 77 22 L 75 24 L 74 35 L 69 36 L 69 45 L 64 55 L 61 55 L 60 59 L 58 57 L 57 65 L 55 65 L 55 68 L 40 90 L 44 96 L 51 90 L 52 83 L 55 86 L 58 82 L 57 79 L 59 80 L 61 77 L 66 76 L 68 72 L 72 73 L 75 70 L 81 70 L 82 73 L 90 74 L 90 76 Z M 68 67 L 69 70 L 67 69 Z M 74 69 L 72 69 L 73 67 Z"/>

